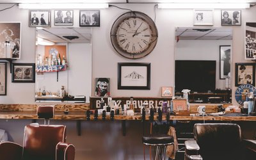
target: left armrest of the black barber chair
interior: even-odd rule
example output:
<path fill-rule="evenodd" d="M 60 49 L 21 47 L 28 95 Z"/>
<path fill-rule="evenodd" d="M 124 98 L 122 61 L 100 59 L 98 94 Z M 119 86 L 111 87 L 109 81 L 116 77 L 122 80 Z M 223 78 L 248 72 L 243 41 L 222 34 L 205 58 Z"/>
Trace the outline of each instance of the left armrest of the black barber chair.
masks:
<path fill-rule="evenodd" d="M 185 159 L 199 160 L 202 157 L 199 155 L 200 147 L 195 140 L 185 141 Z"/>

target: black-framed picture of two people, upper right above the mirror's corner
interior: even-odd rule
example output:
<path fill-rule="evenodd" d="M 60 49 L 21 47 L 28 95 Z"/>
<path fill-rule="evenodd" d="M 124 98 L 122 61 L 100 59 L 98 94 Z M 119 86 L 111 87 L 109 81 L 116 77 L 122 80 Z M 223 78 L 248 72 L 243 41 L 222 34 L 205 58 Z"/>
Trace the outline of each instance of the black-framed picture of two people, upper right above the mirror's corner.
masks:
<path fill-rule="evenodd" d="M 221 10 L 221 26 L 241 26 L 241 13 L 241 10 Z"/>

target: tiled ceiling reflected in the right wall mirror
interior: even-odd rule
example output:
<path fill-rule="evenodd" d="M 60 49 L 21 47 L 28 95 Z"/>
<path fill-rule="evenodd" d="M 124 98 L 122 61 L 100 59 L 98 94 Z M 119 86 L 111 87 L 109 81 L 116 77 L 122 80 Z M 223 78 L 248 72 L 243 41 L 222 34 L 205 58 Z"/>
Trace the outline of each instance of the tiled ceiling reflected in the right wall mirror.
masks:
<path fill-rule="evenodd" d="M 232 40 L 231 28 L 176 28 L 179 40 Z"/>

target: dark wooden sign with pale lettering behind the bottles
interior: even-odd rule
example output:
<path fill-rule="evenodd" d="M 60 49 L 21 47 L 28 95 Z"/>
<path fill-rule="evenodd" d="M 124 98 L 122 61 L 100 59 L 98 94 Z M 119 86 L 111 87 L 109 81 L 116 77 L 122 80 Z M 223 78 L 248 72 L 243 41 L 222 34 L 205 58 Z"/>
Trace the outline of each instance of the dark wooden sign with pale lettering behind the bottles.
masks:
<path fill-rule="evenodd" d="M 90 108 L 98 109 L 100 108 L 100 99 L 104 99 L 104 103 L 108 105 L 108 97 L 90 97 Z M 116 102 L 118 107 L 122 107 L 124 104 L 131 104 L 130 97 L 111 97 L 113 102 Z M 148 104 L 148 108 L 157 108 L 163 105 L 163 101 L 166 100 L 168 106 L 170 106 L 170 101 L 172 98 L 158 98 L 158 97 L 133 97 L 134 108 L 141 108 L 143 104 Z"/>

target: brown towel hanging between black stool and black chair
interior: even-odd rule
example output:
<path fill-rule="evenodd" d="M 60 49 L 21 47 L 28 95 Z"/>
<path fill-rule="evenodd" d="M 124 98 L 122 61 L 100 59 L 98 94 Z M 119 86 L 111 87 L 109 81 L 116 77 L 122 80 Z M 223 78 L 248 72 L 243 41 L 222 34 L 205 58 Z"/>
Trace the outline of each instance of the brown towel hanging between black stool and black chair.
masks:
<path fill-rule="evenodd" d="M 174 127 L 171 126 L 169 128 L 168 135 L 173 136 L 174 144 L 167 146 L 166 155 L 168 157 L 170 157 L 171 159 L 175 159 L 175 153 L 176 153 L 177 150 L 179 150 L 179 147 L 178 147 L 178 141 L 177 141 L 176 131 L 175 131 Z"/>

